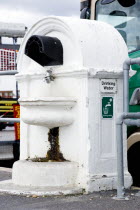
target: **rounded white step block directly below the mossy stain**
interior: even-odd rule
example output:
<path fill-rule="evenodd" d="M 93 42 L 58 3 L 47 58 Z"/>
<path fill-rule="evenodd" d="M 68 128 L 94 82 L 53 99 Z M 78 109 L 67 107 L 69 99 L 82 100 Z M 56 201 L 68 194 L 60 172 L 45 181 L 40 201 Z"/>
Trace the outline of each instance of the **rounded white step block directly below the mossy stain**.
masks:
<path fill-rule="evenodd" d="M 75 162 L 32 162 L 19 160 L 14 163 L 12 182 L 19 186 L 73 187 L 78 173 Z"/>

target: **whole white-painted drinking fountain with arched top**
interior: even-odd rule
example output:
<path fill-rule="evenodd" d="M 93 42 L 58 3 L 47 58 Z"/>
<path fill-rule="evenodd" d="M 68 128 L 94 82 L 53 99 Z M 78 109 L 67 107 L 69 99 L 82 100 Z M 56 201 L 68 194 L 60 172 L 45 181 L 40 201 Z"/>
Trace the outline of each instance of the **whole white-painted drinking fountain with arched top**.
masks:
<path fill-rule="evenodd" d="M 57 37 L 63 45 L 64 64 L 42 67 L 28 58 L 24 50 L 32 35 Z M 122 64 L 126 58 L 122 37 L 102 22 L 48 17 L 30 29 L 20 48 L 16 76 L 21 96 L 21 160 L 13 167 L 14 184 L 79 187 L 86 192 L 116 188 L 115 120 L 122 112 Z M 50 69 L 55 79 L 47 84 Z M 102 104 L 106 99 L 107 104 Z M 109 106 L 112 111 L 107 115 Z M 49 128 L 57 126 L 60 150 L 70 161 L 71 172 L 67 161 L 42 167 L 26 160 L 46 156 Z M 125 186 L 129 187 L 126 151 L 124 138 Z M 64 182 L 62 174 L 67 177 Z"/>

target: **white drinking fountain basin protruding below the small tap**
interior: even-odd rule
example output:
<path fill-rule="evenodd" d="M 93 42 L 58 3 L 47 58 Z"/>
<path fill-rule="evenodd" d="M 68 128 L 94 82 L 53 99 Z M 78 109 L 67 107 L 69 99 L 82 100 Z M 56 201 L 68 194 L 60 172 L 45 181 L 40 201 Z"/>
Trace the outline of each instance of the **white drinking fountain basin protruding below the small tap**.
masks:
<path fill-rule="evenodd" d="M 72 108 L 76 99 L 71 97 L 20 98 L 21 120 L 29 125 L 49 129 L 70 125 L 74 121 Z"/>

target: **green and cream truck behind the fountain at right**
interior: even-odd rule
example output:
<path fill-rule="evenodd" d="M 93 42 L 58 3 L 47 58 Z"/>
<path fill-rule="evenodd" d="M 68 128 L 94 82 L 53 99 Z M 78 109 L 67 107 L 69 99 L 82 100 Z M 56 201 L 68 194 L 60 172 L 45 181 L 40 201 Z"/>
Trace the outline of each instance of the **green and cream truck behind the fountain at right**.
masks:
<path fill-rule="evenodd" d="M 112 25 L 123 37 L 129 57 L 140 57 L 140 0 L 81 0 L 80 4 L 82 19 Z M 140 66 L 135 64 L 131 68 L 135 74 L 129 79 L 129 112 L 140 112 Z M 140 187 L 139 127 L 127 127 L 127 145 L 128 171 L 133 185 Z"/>

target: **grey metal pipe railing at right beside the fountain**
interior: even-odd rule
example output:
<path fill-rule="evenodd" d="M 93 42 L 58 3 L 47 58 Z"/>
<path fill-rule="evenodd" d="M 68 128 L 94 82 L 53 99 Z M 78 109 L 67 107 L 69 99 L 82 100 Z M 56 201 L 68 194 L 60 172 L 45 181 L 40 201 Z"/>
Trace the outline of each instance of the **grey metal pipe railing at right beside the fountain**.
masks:
<path fill-rule="evenodd" d="M 129 112 L 129 70 L 130 65 L 140 64 L 140 58 L 128 58 L 123 64 L 123 110 L 124 113 L 117 119 L 116 123 L 116 140 L 117 140 L 117 199 L 125 199 L 124 197 L 124 163 L 123 163 L 123 120 L 129 118 L 139 118 L 140 113 Z M 134 123 L 134 121 L 125 121 L 125 123 Z M 139 121 L 137 121 L 137 124 Z"/>

